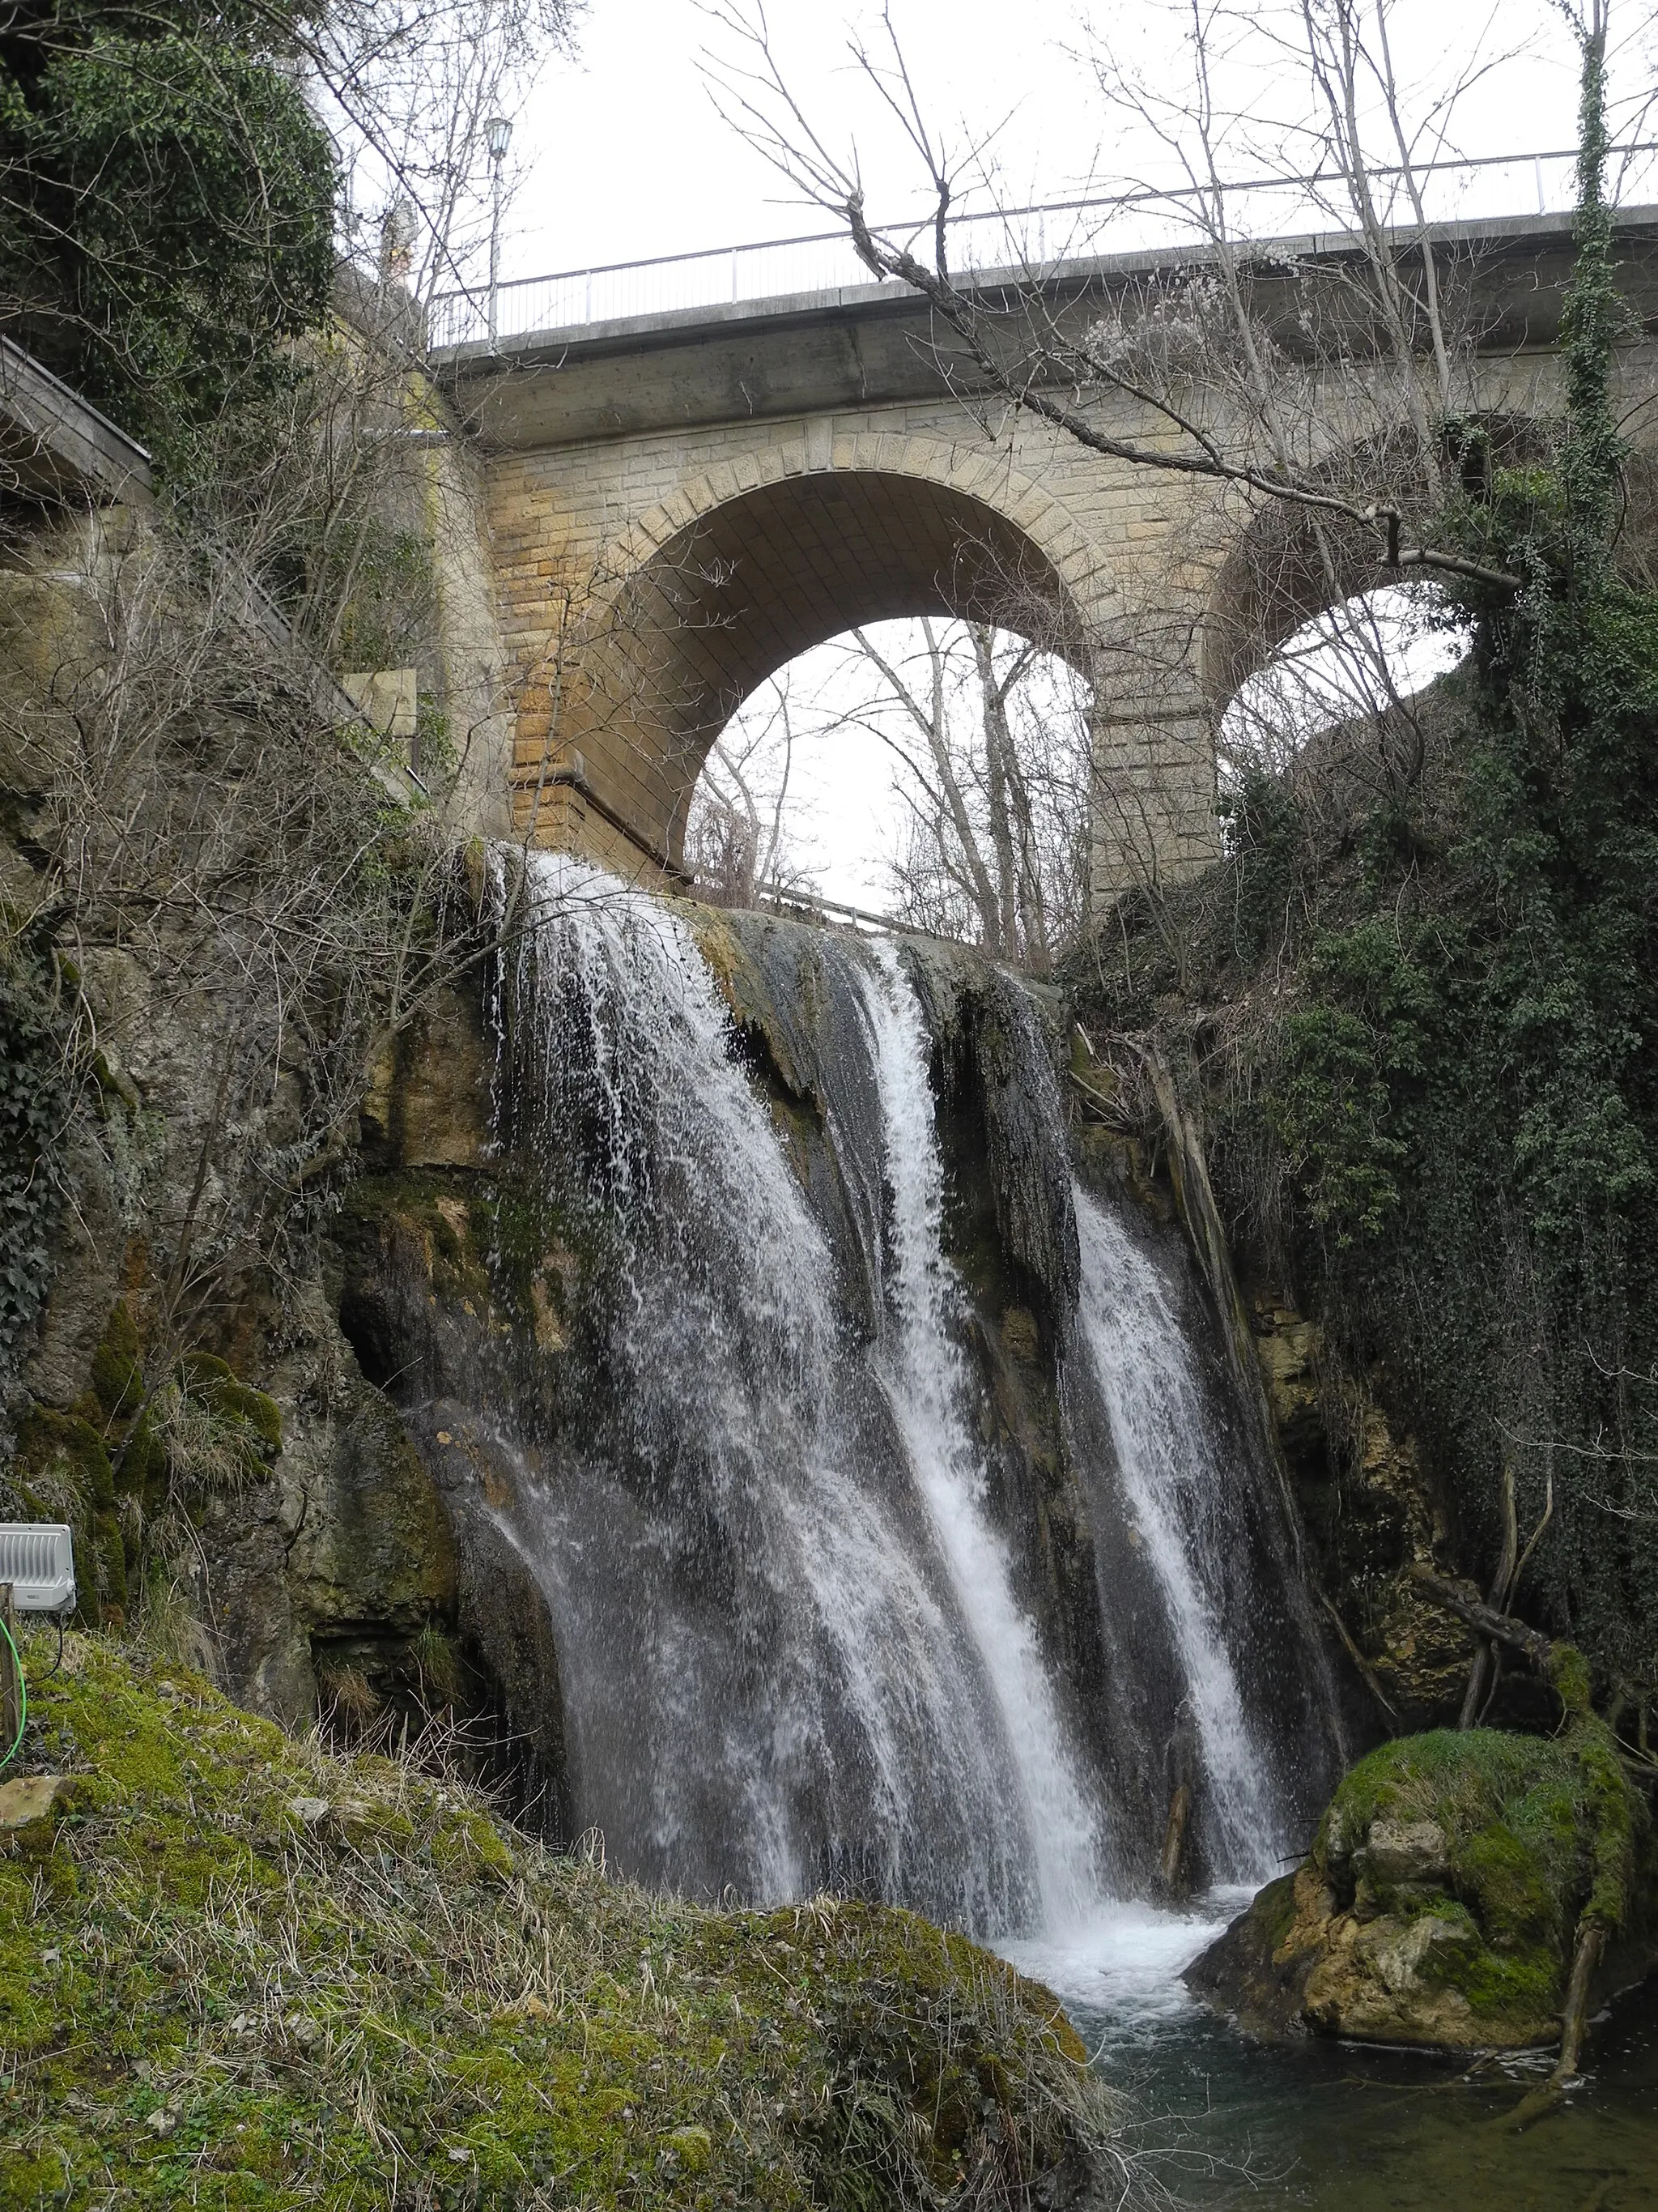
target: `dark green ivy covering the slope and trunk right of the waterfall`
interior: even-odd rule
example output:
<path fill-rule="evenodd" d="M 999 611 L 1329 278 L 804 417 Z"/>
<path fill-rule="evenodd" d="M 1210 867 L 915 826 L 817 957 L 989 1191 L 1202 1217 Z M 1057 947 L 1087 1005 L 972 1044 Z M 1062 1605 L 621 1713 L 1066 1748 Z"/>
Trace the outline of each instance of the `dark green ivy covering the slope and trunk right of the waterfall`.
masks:
<path fill-rule="evenodd" d="M 1096 1033 L 1156 1033 L 1189 1071 L 1247 1265 L 1320 1323 L 1349 1498 L 1368 1433 L 1353 1409 L 1382 1402 L 1421 1455 L 1444 1564 L 1486 1584 L 1512 1478 L 1521 1540 L 1543 1524 L 1514 1604 L 1581 1641 L 1645 1730 L 1658 597 L 1623 540 L 1609 392 L 1627 316 L 1603 164 L 1589 46 L 1567 405 L 1525 460 L 1490 425 L 1444 425 L 1479 467 L 1452 471 L 1441 540 L 1514 582 L 1459 593 L 1475 650 L 1421 708 L 1413 774 L 1340 785 L 1309 745 L 1247 779 L 1222 865 L 1125 914 L 1074 980 Z M 1375 1650 L 1379 1606 L 1364 1617 L 1351 1559 L 1344 1577 Z"/>

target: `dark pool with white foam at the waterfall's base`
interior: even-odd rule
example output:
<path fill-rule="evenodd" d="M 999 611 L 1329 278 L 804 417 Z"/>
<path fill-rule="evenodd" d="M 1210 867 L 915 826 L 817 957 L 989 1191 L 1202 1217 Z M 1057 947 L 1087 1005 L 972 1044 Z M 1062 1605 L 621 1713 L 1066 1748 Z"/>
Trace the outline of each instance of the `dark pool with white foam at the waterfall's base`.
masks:
<path fill-rule="evenodd" d="M 1583 2088 L 1517 2132 L 1550 2057 L 1265 2044 L 1187 1997 L 1180 1969 L 1247 1896 L 1112 1907 L 1061 1942 L 1008 1944 L 1132 2099 L 1134 2141 L 1174 2205 L 1658 2212 L 1658 1978 L 1596 2024 Z"/>

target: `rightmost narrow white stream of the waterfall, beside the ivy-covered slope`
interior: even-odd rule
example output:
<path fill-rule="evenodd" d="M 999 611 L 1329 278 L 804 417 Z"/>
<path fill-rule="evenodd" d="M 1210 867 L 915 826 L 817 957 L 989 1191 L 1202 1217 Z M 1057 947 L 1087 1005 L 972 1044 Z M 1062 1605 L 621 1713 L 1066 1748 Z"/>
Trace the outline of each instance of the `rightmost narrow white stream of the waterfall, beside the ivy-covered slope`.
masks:
<path fill-rule="evenodd" d="M 1222 1615 L 1222 1555 L 1238 1540 L 1227 1504 L 1240 1469 L 1216 1449 L 1192 1352 L 1161 1267 L 1123 1223 L 1074 1186 L 1079 1323 L 1116 1475 L 1156 1577 L 1203 1759 L 1209 1867 L 1227 1880 L 1278 1874 L 1284 1812 L 1271 1745 L 1245 1710 Z"/>

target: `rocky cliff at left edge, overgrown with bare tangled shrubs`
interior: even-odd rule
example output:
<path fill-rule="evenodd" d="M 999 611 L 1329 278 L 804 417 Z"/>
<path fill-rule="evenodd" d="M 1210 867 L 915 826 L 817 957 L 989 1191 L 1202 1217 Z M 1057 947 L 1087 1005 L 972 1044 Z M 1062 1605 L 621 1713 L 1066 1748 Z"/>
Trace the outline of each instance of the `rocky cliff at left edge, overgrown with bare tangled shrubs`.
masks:
<path fill-rule="evenodd" d="M 389 883 L 407 823 L 164 531 L 7 520 L 0 1513 L 73 1524 L 88 1624 L 177 1590 L 265 1712 L 358 1648 L 413 1694 L 453 1544 L 321 1241 L 382 940 L 312 876 Z"/>

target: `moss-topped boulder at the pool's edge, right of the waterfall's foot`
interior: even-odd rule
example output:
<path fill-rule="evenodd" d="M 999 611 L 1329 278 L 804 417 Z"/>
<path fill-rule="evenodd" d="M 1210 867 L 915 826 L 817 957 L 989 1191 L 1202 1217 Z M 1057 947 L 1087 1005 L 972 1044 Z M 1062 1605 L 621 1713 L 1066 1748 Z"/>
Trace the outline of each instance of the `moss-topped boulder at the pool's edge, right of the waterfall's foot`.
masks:
<path fill-rule="evenodd" d="M 1262 2033 L 1488 2051 L 1554 2042 L 1583 1920 L 1605 1986 L 1658 1958 L 1651 1820 L 1594 1721 L 1384 1743 L 1342 1781 L 1307 1865 L 1187 1984 Z"/>

